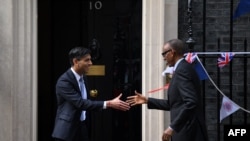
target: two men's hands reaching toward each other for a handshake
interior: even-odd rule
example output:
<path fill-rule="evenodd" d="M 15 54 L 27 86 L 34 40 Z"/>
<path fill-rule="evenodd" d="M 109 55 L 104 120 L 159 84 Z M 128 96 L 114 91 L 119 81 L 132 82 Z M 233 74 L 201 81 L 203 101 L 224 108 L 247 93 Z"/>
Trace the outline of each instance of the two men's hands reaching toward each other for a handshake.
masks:
<path fill-rule="evenodd" d="M 127 111 L 130 109 L 131 106 L 145 104 L 148 101 L 148 99 L 145 96 L 142 96 L 142 94 L 138 93 L 137 91 L 135 91 L 134 96 L 127 97 L 126 101 L 120 100 L 121 96 L 122 94 L 120 94 L 119 96 L 117 96 L 116 98 L 112 100 L 106 101 L 107 108 Z"/>

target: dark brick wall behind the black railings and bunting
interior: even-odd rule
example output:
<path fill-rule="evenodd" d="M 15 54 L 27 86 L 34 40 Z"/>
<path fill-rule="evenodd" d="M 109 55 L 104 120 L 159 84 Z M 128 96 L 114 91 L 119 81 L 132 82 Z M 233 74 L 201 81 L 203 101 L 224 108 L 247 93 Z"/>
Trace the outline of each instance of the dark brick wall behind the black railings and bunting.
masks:
<path fill-rule="evenodd" d="M 232 2 L 232 3 L 231 3 Z M 244 40 L 250 44 L 250 13 L 231 21 L 239 0 L 193 0 L 192 30 L 196 41 L 195 52 L 244 52 Z M 231 10 L 232 8 L 232 10 Z M 179 1 L 178 37 L 188 38 L 187 0 Z M 218 44 L 219 43 L 219 44 Z M 250 51 L 249 45 L 246 48 Z M 240 57 L 241 56 L 241 57 Z M 236 104 L 250 110 L 250 55 L 235 55 L 231 64 L 217 67 L 216 55 L 199 56 L 207 72 L 220 90 Z M 222 95 L 210 80 L 203 81 L 203 95 L 209 141 L 223 140 L 224 124 L 249 124 L 250 114 L 242 110 L 219 123 Z M 248 93 L 248 94 L 247 94 Z"/>

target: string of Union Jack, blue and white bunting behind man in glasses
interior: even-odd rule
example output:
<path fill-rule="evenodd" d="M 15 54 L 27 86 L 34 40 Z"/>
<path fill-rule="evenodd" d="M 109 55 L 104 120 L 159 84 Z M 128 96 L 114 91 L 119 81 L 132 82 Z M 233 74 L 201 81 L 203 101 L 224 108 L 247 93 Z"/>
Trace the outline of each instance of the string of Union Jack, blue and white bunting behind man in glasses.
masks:
<path fill-rule="evenodd" d="M 250 54 L 250 52 L 193 52 L 193 53 L 187 53 L 185 54 L 185 60 L 189 63 L 193 63 L 195 62 L 195 60 L 197 60 L 194 64 L 195 66 L 195 70 L 200 78 L 200 80 L 206 80 L 209 79 L 210 82 L 214 85 L 214 87 L 217 89 L 217 91 L 219 91 L 219 93 L 223 96 L 222 99 L 222 104 L 221 104 L 221 108 L 220 108 L 220 122 L 226 118 L 227 116 L 233 114 L 234 112 L 236 112 L 237 110 L 241 109 L 247 113 L 250 113 L 249 110 L 239 106 L 238 104 L 236 104 L 235 102 L 233 102 L 230 98 L 228 98 L 218 87 L 217 85 L 214 83 L 214 81 L 212 80 L 212 78 L 209 76 L 209 74 L 207 73 L 205 67 L 202 65 L 198 54 L 220 54 L 220 57 L 218 57 L 217 61 L 218 61 L 218 67 L 222 68 L 224 66 L 226 66 L 227 64 L 229 64 L 229 62 L 233 59 L 234 55 L 236 54 Z M 162 75 L 165 74 L 172 74 L 173 73 L 173 67 L 167 67 L 163 72 Z M 158 88 L 158 89 L 154 89 L 149 91 L 148 93 L 154 93 L 163 89 L 168 89 L 168 85 L 166 84 L 165 86 Z"/>

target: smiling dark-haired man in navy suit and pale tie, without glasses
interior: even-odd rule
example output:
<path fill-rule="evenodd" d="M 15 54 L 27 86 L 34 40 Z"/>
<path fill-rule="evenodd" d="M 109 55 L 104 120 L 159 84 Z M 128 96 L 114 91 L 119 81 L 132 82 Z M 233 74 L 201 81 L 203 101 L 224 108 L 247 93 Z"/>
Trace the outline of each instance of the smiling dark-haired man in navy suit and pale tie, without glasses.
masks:
<path fill-rule="evenodd" d="M 75 47 L 69 52 L 71 68 L 56 83 L 57 113 L 52 137 L 56 141 L 89 141 L 85 123 L 86 111 L 107 108 L 129 110 L 128 103 L 120 100 L 122 94 L 108 101 L 91 101 L 87 98 L 85 74 L 92 65 L 91 52 Z"/>

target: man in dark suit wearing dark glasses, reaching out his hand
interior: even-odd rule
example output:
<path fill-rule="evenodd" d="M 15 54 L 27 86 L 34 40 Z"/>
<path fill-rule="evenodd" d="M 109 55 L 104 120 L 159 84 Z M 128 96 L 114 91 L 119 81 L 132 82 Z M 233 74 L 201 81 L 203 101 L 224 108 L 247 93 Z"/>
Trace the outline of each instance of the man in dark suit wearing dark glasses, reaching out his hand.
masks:
<path fill-rule="evenodd" d="M 196 71 L 184 59 L 184 43 L 172 39 L 164 44 L 162 56 L 166 65 L 174 67 L 168 88 L 168 99 L 147 98 L 135 91 L 127 98 L 132 106 L 147 104 L 148 109 L 170 111 L 171 124 L 163 132 L 162 141 L 207 141 L 200 83 Z"/>

